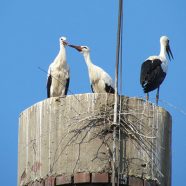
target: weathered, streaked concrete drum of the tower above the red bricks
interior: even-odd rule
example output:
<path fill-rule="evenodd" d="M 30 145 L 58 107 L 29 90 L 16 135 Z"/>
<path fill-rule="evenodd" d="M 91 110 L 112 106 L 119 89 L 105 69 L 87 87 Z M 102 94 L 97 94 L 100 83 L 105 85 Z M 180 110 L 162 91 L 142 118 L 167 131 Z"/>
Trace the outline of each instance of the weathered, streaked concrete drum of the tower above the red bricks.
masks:
<path fill-rule="evenodd" d="M 51 175 L 111 172 L 113 100 L 109 94 L 71 95 L 23 111 L 18 185 Z M 169 113 L 141 99 L 122 97 L 121 125 L 121 172 L 171 185 Z"/>

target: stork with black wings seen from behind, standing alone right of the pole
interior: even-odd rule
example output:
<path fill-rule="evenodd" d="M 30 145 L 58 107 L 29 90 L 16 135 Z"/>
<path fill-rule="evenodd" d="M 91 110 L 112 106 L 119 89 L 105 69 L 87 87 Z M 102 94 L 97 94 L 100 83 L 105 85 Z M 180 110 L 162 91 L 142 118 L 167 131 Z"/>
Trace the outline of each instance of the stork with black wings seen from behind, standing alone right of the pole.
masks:
<path fill-rule="evenodd" d="M 150 56 L 141 65 L 140 83 L 143 87 L 144 93 L 147 93 L 147 101 L 149 99 L 148 93 L 157 89 L 156 104 L 158 105 L 160 85 L 165 79 L 168 69 L 168 55 L 169 60 L 174 59 L 169 46 L 169 39 L 167 36 L 160 38 L 160 54 L 159 56 Z"/>

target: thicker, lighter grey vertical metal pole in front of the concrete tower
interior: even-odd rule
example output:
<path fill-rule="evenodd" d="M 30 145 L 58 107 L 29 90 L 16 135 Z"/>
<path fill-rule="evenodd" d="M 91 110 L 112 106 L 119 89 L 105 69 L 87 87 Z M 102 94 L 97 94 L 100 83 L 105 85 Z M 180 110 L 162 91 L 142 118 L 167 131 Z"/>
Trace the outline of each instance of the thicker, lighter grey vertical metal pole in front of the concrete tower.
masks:
<path fill-rule="evenodd" d="M 115 66 L 115 102 L 114 102 L 114 119 L 113 119 L 113 163 L 112 163 L 112 186 L 116 183 L 116 127 L 118 117 L 118 66 L 119 66 L 119 53 L 120 53 L 120 36 L 121 36 L 121 15 L 122 3 L 119 0 L 118 12 L 118 30 L 117 30 L 117 46 L 116 46 L 116 66 Z"/>

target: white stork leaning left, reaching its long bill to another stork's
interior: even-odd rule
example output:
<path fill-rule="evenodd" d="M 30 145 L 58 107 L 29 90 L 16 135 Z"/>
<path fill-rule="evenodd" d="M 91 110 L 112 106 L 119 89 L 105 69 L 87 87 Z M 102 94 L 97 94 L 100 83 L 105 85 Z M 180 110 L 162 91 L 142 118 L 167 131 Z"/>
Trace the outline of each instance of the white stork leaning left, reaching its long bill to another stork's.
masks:
<path fill-rule="evenodd" d="M 93 93 L 113 93 L 114 85 L 112 78 L 100 67 L 94 65 L 90 58 L 90 49 L 87 46 L 69 45 L 77 49 L 84 56 L 88 67 L 89 79 Z"/>

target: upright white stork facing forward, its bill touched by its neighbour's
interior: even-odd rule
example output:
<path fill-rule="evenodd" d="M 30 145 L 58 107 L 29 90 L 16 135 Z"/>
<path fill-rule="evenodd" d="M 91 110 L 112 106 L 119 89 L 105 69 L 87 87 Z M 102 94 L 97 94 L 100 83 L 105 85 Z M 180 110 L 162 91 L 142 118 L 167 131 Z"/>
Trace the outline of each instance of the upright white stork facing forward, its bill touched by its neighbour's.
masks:
<path fill-rule="evenodd" d="M 60 50 L 54 61 L 50 64 L 47 78 L 47 97 L 67 95 L 70 71 L 66 63 L 66 38 L 60 37 Z"/>

